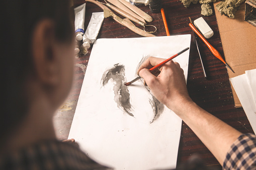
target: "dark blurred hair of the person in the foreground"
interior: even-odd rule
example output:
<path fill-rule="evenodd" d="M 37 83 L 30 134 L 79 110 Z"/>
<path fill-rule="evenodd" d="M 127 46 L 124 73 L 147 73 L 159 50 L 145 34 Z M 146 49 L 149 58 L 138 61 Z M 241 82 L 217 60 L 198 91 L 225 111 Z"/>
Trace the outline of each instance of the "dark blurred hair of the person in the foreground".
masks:
<path fill-rule="evenodd" d="M 63 42 L 71 42 L 73 24 L 68 0 L 8 0 L 1 2 L 0 9 L 0 135 L 3 140 L 3 135 L 27 113 L 24 87 L 28 72 L 33 72 L 31 36 L 36 24 L 41 19 L 51 19 L 55 23 L 56 39 Z"/>

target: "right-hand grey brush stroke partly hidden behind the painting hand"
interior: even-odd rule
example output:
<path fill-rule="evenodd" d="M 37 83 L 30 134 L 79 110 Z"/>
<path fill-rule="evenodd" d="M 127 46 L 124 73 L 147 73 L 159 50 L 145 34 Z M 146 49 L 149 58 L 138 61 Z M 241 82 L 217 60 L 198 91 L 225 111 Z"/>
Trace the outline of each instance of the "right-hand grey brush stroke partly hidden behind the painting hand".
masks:
<path fill-rule="evenodd" d="M 148 58 L 149 56 L 145 56 L 145 57 L 142 57 L 142 59 L 140 60 L 137 68 L 136 68 L 136 75 L 137 75 L 137 70 L 139 68 L 139 66 Z M 140 79 L 141 80 L 141 79 Z M 141 80 L 141 82 L 143 83 L 143 81 Z M 162 114 L 163 110 L 164 110 L 164 105 L 159 102 L 155 96 L 150 92 L 150 89 L 147 88 L 145 85 L 144 87 L 147 89 L 147 91 L 149 92 L 149 94 L 152 96 L 152 99 L 148 99 L 149 100 L 149 103 L 153 109 L 153 113 L 154 113 L 154 117 L 152 119 L 152 121 L 150 121 L 150 123 L 152 123 L 154 120 L 157 120 L 160 115 Z"/>

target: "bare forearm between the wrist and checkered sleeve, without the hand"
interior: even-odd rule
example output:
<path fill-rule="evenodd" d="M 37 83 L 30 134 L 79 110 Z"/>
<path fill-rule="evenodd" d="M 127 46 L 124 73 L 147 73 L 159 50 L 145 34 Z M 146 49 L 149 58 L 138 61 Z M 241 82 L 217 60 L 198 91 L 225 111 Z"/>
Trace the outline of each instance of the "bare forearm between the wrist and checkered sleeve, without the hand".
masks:
<path fill-rule="evenodd" d="M 241 133 L 192 101 L 184 102 L 176 110 L 176 114 L 195 132 L 222 165 L 228 149 Z"/>

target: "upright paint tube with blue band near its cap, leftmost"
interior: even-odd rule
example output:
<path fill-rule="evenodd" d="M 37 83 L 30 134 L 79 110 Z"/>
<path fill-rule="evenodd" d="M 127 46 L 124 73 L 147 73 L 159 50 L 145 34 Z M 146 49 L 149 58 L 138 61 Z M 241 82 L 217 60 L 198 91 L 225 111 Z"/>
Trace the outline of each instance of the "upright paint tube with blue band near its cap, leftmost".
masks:
<path fill-rule="evenodd" d="M 74 27 L 76 40 L 82 40 L 84 33 L 84 18 L 86 17 L 86 3 L 74 9 Z"/>

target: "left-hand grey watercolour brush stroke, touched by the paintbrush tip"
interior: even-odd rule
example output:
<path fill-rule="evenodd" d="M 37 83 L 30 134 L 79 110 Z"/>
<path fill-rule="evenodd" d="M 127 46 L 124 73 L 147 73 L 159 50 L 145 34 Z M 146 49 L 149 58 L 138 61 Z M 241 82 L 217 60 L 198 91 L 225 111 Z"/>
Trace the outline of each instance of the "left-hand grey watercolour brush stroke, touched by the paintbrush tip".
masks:
<path fill-rule="evenodd" d="M 134 117 L 134 115 L 129 112 L 131 110 L 130 93 L 128 87 L 124 85 L 126 82 L 124 65 L 118 63 L 106 70 L 101 79 L 102 86 L 105 86 L 111 79 L 115 82 L 113 90 L 115 94 L 114 100 L 117 106 L 128 115 Z"/>

